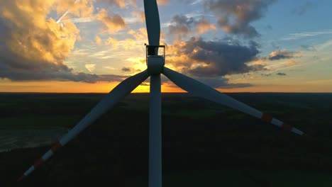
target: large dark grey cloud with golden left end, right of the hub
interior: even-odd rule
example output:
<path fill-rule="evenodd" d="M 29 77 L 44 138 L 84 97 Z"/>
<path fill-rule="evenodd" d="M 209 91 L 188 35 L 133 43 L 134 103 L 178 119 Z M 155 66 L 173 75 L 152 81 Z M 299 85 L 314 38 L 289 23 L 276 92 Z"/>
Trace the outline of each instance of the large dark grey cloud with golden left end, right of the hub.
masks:
<path fill-rule="evenodd" d="M 236 40 L 205 41 L 191 38 L 170 47 L 167 62 L 180 71 L 197 77 L 221 77 L 226 74 L 242 74 L 264 70 L 263 64 L 248 65 L 258 59 L 257 44 L 240 45 Z"/>

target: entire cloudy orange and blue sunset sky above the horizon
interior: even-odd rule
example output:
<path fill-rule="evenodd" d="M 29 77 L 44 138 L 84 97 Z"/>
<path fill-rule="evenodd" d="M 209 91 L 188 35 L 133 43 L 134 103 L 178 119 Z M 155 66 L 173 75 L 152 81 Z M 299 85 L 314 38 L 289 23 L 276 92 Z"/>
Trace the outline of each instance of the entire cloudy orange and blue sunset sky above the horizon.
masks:
<path fill-rule="evenodd" d="M 219 91 L 332 92 L 331 0 L 157 3 L 166 67 Z M 140 0 L 0 0 L 0 92 L 109 92 L 146 69 L 145 43 Z"/>

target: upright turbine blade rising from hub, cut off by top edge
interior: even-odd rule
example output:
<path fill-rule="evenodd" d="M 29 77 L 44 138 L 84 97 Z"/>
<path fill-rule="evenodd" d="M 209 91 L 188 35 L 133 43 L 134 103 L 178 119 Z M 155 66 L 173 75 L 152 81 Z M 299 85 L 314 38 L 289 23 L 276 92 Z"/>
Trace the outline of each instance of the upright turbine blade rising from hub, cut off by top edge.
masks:
<path fill-rule="evenodd" d="M 144 0 L 146 30 L 148 31 L 149 45 L 159 45 L 160 20 L 156 0 Z"/>

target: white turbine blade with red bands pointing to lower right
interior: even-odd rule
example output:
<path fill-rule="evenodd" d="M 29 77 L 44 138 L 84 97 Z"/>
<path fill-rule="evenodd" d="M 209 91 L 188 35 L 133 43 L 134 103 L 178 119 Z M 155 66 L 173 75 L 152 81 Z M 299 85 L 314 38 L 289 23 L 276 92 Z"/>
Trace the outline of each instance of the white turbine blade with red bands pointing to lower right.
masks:
<path fill-rule="evenodd" d="M 179 74 L 172 69 L 164 67 L 163 74 L 165 74 L 168 79 L 177 84 L 177 86 L 179 86 L 181 89 L 188 91 L 194 96 L 199 96 L 201 98 L 206 98 L 207 100 L 214 101 L 216 103 L 221 103 L 238 111 L 242 111 L 243 113 L 248 113 L 249 115 L 253 115 L 256 118 L 260 118 L 262 121 L 265 121 L 267 123 L 272 123 L 272 125 L 276 125 L 277 127 L 280 127 L 286 131 L 294 132 L 297 135 L 304 135 L 304 132 L 302 132 L 301 130 L 298 130 L 297 128 L 292 128 L 291 126 L 283 123 L 282 121 L 277 120 L 276 118 L 272 118 L 272 116 L 270 115 L 262 113 L 255 108 L 246 105 L 245 103 L 241 103 L 240 101 L 237 101 L 236 99 L 231 98 L 226 94 L 216 91 L 215 89 L 212 89 L 211 87 L 206 86 L 205 84 L 202 84 L 201 82 L 187 77 L 183 74 Z"/>

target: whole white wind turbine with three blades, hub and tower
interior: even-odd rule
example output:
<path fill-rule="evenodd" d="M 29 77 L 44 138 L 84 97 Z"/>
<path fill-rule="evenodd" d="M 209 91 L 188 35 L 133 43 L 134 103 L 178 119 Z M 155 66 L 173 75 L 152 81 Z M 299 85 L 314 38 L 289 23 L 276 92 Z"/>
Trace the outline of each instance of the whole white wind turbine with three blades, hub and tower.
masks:
<path fill-rule="evenodd" d="M 272 116 L 262 113 L 245 103 L 241 103 L 226 94 L 222 94 L 199 81 L 164 67 L 165 49 L 163 55 L 158 55 L 158 49 L 164 47 L 160 45 L 160 20 L 156 0 L 144 0 L 145 21 L 148 30 L 149 45 L 146 46 L 146 58 L 148 68 L 145 71 L 129 77 L 116 86 L 107 94 L 79 123 L 64 135 L 60 140 L 38 159 L 18 181 L 33 172 L 40 164 L 57 152 L 57 150 L 66 145 L 67 142 L 76 137 L 101 115 L 109 111 L 118 101 L 130 94 L 133 89 L 139 86 L 145 79 L 150 77 L 150 132 L 149 132 L 149 187 L 162 186 L 162 128 L 161 128 L 161 90 L 160 74 L 164 74 L 168 79 L 173 81 L 177 86 L 194 96 L 205 98 L 209 101 L 220 103 L 224 106 L 231 107 L 243 113 L 253 115 L 262 121 L 276 125 L 288 132 L 294 132 L 297 135 L 305 135 L 304 132 L 297 128 L 283 123 Z"/>

